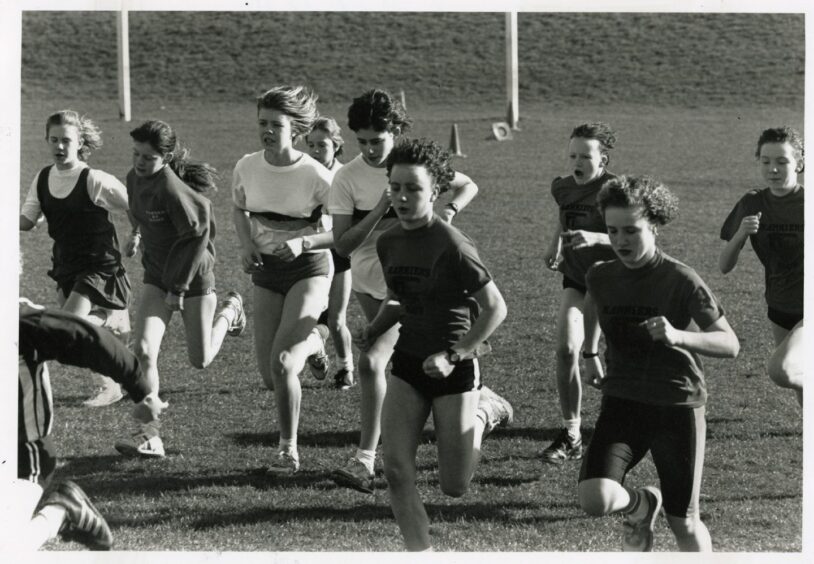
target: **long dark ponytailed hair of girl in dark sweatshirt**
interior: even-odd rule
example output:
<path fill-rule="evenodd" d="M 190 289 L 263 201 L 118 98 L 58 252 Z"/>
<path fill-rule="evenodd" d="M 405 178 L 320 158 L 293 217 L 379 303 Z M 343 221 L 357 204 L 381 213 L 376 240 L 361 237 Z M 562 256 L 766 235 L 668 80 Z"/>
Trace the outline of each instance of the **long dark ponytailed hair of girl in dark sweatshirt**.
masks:
<path fill-rule="evenodd" d="M 181 145 L 175 130 L 165 121 L 153 119 L 142 123 L 130 132 L 138 143 L 149 143 L 162 157 L 169 156 L 168 166 L 196 192 L 217 190 L 218 172 L 208 163 L 191 162 L 189 149 Z"/>

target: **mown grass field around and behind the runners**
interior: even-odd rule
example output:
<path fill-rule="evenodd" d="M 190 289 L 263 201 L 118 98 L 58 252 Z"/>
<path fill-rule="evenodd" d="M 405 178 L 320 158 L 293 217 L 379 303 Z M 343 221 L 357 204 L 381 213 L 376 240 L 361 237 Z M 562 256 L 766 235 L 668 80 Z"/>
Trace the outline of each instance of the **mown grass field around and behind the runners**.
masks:
<path fill-rule="evenodd" d="M 741 341 L 736 360 L 705 362 L 710 400 L 702 517 L 715 548 L 801 550 L 801 415 L 792 395 L 775 388 L 764 375 L 771 336 L 762 300 L 763 273 L 750 248 L 727 277 L 716 266 L 721 248 L 717 233 L 724 217 L 744 191 L 758 186 L 752 156 L 758 133 L 776 124 L 803 126 L 801 17 L 521 15 L 521 38 L 527 30 L 521 43 L 528 47 L 523 52 L 529 58 L 529 53 L 536 53 L 536 60 L 521 60 L 521 65 L 549 68 L 521 74 L 521 86 L 526 83 L 522 131 L 503 143 L 486 139 L 490 123 L 502 119 L 504 111 L 502 70 L 492 76 L 489 64 L 501 64 L 502 18 L 496 14 L 460 16 L 475 26 L 467 28 L 472 33 L 449 36 L 445 30 L 457 29 L 451 14 L 398 21 L 394 15 L 374 14 L 364 21 L 331 15 L 332 25 L 326 23 L 324 28 L 306 27 L 305 23 L 322 21 L 316 18 L 303 23 L 281 14 L 285 25 L 273 22 L 280 25 L 274 28 L 279 30 L 274 37 L 281 45 L 291 46 L 286 53 L 298 65 L 274 67 L 281 55 L 271 49 L 263 64 L 274 72 L 246 70 L 253 60 L 247 53 L 256 50 L 257 43 L 251 43 L 250 33 L 236 33 L 266 29 L 260 17 L 230 14 L 213 21 L 198 14 L 185 19 L 179 26 L 183 33 L 175 34 L 167 46 L 168 57 L 155 66 L 155 59 L 145 53 L 153 40 L 148 35 L 170 25 L 168 18 L 134 14 L 132 25 L 141 33 L 133 33 L 138 43 L 131 46 L 133 124 L 115 119 L 115 73 L 111 79 L 105 58 L 109 53 L 90 43 L 80 50 L 81 57 L 74 58 L 79 63 L 74 72 L 64 66 L 62 50 L 55 51 L 47 42 L 58 24 L 69 29 L 95 25 L 99 33 L 88 41 L 101 41 L 103 17 L 57 19 L 37 14 L 24 18 L 20 193 L 25 193 L 35 172 L 48 164 L 42 123 L 49 112 L 71 106 L 96 119 L 104 130 L 105 146 L 91 164 L 120 178 L 130 166 L 129 129 L 148 117 L 165 119 L 177 127 L 193 156 L 207 160 L 223 175 L 221 190 L 212 195 L 219 219 L 216 275 L 221 291 L 235 288 L 250 295 L 251 290 L 248 276 L 236 267 L 238 247 L 229 222 L 228 186 L 237 159 L 257 150 L 251 99 L 255 90 L 282 81 L 313 82 L 326 92 L 322 112 L 344 123 L 350 97 L 382 84 L 405 89 L 415 135 L 446 142 L 451 124 L 458 123 L 468 155 L 458 165 L 481 192 L 456 224 L 477 242 L 509 307 L 509 317 L 494 338 L 495 353 L 484 359 L 484 378 L 512 401 L 516 418 L 513 427 L 495 432 L 484 445 L 471 491 L 458 500 L 440 494 L 428 427 L 426 442 L 419 449 L 419 488 L 437 550 L 618 550 L 619 521 L 589 518 L 577 505 L 578 466 L 550 468 L 540 462 L 540 452 L 559 424 L 553 346 L 560 281 L 546 271 L 541 259 L 543 242 L 556 219 L 548 187 L 554 176 L 567 172 L 565 149 L 574 125 L 593 119 L 613 124 L 619 144 L 611 170 L 653 174 L 679 195 L 681 216 L 662 231 L 662 247 L 707 281 Z M 178 25 L 179 20 L 169 21 Z M 365 34 L 371 27 L 388 24 L 392 25 L 386 49 L 377 50 L 372 36 Z M 184 42 L 204 33 L 207 25 L 234 31 L 233 50 L 213 48 L 211 56 L 200 51 L 190 55 Z M 611 38 L 608 47 L 593 57 L 577 50 L 580 55 L 575 61 L 569 55 L 574 46 L 567 41 L 568 34 L 589 25 L 597 36 Z M 332 49 L 344 64 L 305 64 L 307 53 L 291 38 L 337 26 L 340 31 L 332 39 L 337 42 Z M 478 52 L 487 47 L 474 37 L 486 34 L 487 28 L 496 45 Z M 418 29 L 421 33 L 416 35 Z M 535 52 L 528 38 L 531 31 L 545 36 L 550 48 Z M 693 44 L 687 39 L 689 31 Z M 399 57 L 412 56 L 413 63 L 384 68 L 375 59 L 360 59 L 343 39 L 351 33 L 370 41 L 364 45 L 371 58 L 386 56 L 383 51 L 397 52 Z M 213 33 L 210 36 L 218 41 Z M 653 37 L 660 38 L 658 48 L 652 47 Z M 411 51 L 411 38 L 423 42 L 423 50 Z M 444 41 L 452 41 L 457 50 Z M 715 55 L 694 55 L 696 65 L 689 64 L 696 59 L 682 56 L 704 49 Z M 443 65 L 433 64 L 428 55 L 433 50 L 443 51 L 448 67 L 438 70 Z M 789 72 L 780 75 L 777 83 L 763 82 L 764 65 L 781 56 L 791 61 Z M 210 72 L 196 72 L 201 60 L 209 62 Z M 44 77 L 53 76 L 58 65 L 66 69 L 64 78 L 52 86 Z M 603 65 L 615 66 L 601 75 L 591 73 Z M 668 71 L 659 72 L 664 65 Z M 360 67 L 375 67 L 380 74 Z M 180 76 L 168 80 L 173 73 Z M 598 83 L 589 83 L 588 77 L 595 76 Z M 773 99 L 777 103 L 769 104 Z M 356 153 L 352 140 L 348 148 L 346 158 Z M 124 223 L 120 221 L 123 228 Z M 21 247 L 26 256 L 21 294 L 52 304 L 53 288 L 45 275 L 47 233 L 21 234 Z M 126 266 L 138 300 L 141 266 L 135 260 Z M 250 300 L 247 308 L 251 319 Z M 350 313 L 351 326 L 359 326 L 360 311 L 353 301 Z M 162 395 L 171 409 L 163 428 L 168 456 L 159 461 L 120 458 L 112 445 L 129 430 L 129 405 L 83 408 L 89 378 L 80 371 L 54 367 L 54 439 L 63 460 L 60 475 L 86 488 L 108 517 L 116 548 L 121 550 L 401 550 L 381 477 L 375 496 L 337 488 L 328 478 L 357 439 L 358 388 L 340 393 L 304 375 L 299 436 L 303 470 L 284 479 L 258 472 L 275 453 L 277 433 L 273 397 L 263 388 L 254 364 L 252 329 L 250 322 L 247 333 L 228 341 L 209 369 L 195 371 L 186 363 L 182 327 L 177 319 L 173 322 L 160 360 Z M 592 389 L 585 390 L 583 421 L 588 436 L 598 399 Z M 655 480 L 649 459 L 629 480 L 632 484 Z M 76 549 L 77 545 L 52 543 L 48 548 Z M 663 519 L 657 525 L 656 550 L 676 550 Z"/>

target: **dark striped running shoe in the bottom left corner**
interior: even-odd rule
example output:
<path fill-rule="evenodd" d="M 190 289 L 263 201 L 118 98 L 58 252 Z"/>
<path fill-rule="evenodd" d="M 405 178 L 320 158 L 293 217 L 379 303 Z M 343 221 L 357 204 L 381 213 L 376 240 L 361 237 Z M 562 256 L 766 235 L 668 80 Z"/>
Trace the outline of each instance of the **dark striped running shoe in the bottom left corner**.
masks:
<path fill-rule="evenodd" d="M 66 522 L 60 533 L 66 538 L 91 550 L 110 550 L 113 546 L 113 534 L 107 521 L 74 482 L 65 480 L 54 485 L 40 502 L 40 507 L 46 505 L 59 505 L 65 509 Z"/>

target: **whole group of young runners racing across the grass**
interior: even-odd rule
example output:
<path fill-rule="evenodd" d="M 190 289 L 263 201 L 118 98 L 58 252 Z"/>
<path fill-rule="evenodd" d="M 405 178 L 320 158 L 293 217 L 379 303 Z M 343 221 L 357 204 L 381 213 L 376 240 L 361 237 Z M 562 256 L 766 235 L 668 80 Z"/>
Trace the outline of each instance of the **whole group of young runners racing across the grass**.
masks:
<path fill-rule="evenodd" d="M 334 385 L 348 389 L 358 381 L 361 396 L 358 447 L 331 476 L 372 492 L 381 439 L 405 545 L 431 550 L 415 483 L 416 451 L 430 413 L 439 482 L 450 496 L 465 493 L 483 438 L 513 418 L 509 402 L 483 384 L 478 363 L 506 305 L 473 241 L 452 225 L 478 187 L 453 170 L 452 157 L 436 142 L 406 136 L 411 119 L 386 91 L 369 90 L 351 103 L 348 128 L 360 154 L 344 165 L 337 158 L 344 147 L 341 128 L 319 117 L 309 88 L 272 88 L 257 99 L 256 112 L 259 147 L 235 165 L 230 211 L 241 266 L 253 284 L 257 367 L 277 407 L 279 448 L 268 471 L 300 468 L 300 374 L 307 366 L 317 378 L 326 377 L 330 335 Z M 141 251 L 144 289 L 132 335 L 119 333 L 132 341 L 140 363 L 141 388 L 133 399 L 149 416 L 116 449 L 160 457 L 159 416 L 167 404 L 158 398 L 157 359 L 171 316 L 181 313 L 196 368 L 208 366 L 225 336 L 240 335 L 247 320 L 238 293 L 228 292 L 218 304 L 214 292 L 216 227 L 205 193 L 215 171 L 190 161 L 167 123 L 148 121 L 130 135 L 133 167 L 122 185 L 86 163 L 101 144 L 90 120 L 73 111 L 49 116 L 46 140 L 54 163 L 32 182 L 20 229 L 45 217 L 54 240 L 49 275 L 57 282 L 58 303 L 110 327 L 112 312 L 124 311 L 126 319 L 130 298 L 110 213 L 127 212 L 133 229 L 123 254 Z M 300 140 L 305 151 L 297 148 Z M 563 429 L 542 458 L 554 464 L 582 459 L 579 503 L 591 515 L 624 515 L 625 550 L 652 548 L 662 506 L 680 549 L 709 550 L 699 512 L 706 400 L 700 356 L 734 357 L 738 339 L 703 280 L 657 245 L 658 229 L 676 215 L 675 196 L 652 177 L 610 173 L 615 142 L 605 123 L 576 127 L 570 174 L 551 186 L 559 223 L 544 256 L 563 275 L 556 350 Z M 765 267 L 777 344 L 769 374 L 794 390 L 801 405 L 802 157 L 796 131 L 761 134 L 757 158 L 767 187 L 747 193 L 726 218 L 720 259 L 723 272 L 732 270 L 751 240 Z M 351 293 L 366 319 L 353 339 L 347 326 Z M 351 340 L 359 351 L 356 363 Z M 580 431 L 580 359 L 586 381 L 603 394 L 587 449 Z M 99 383 L 89 405 L 120 399 L 118 384 Z M 43 448 L 41 438 L 34 447 Z M 624 485 L 647 452 L 660 487 Z"/>

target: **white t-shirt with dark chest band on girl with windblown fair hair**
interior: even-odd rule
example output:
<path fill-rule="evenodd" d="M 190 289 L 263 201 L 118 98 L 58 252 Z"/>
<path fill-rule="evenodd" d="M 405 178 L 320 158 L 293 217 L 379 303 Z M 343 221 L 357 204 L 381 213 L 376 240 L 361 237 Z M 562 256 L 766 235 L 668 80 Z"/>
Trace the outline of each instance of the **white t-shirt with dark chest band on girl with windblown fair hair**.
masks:
<path fill-rule="evenodd" d="M 294 164 L 270 165 L 263 151 L 244 155 L 232 175 L 232 201 L 249 212 L 274 212 L 309 218 L 317 206 L 328 207 L 331 172 L 303 153 Z M 252 215 L 252 241 L 261 253 L 271 254 L 289 239 L 316 233 L 313 225 Z M 320 251 L 318 251 L 320 252 Z"/>

